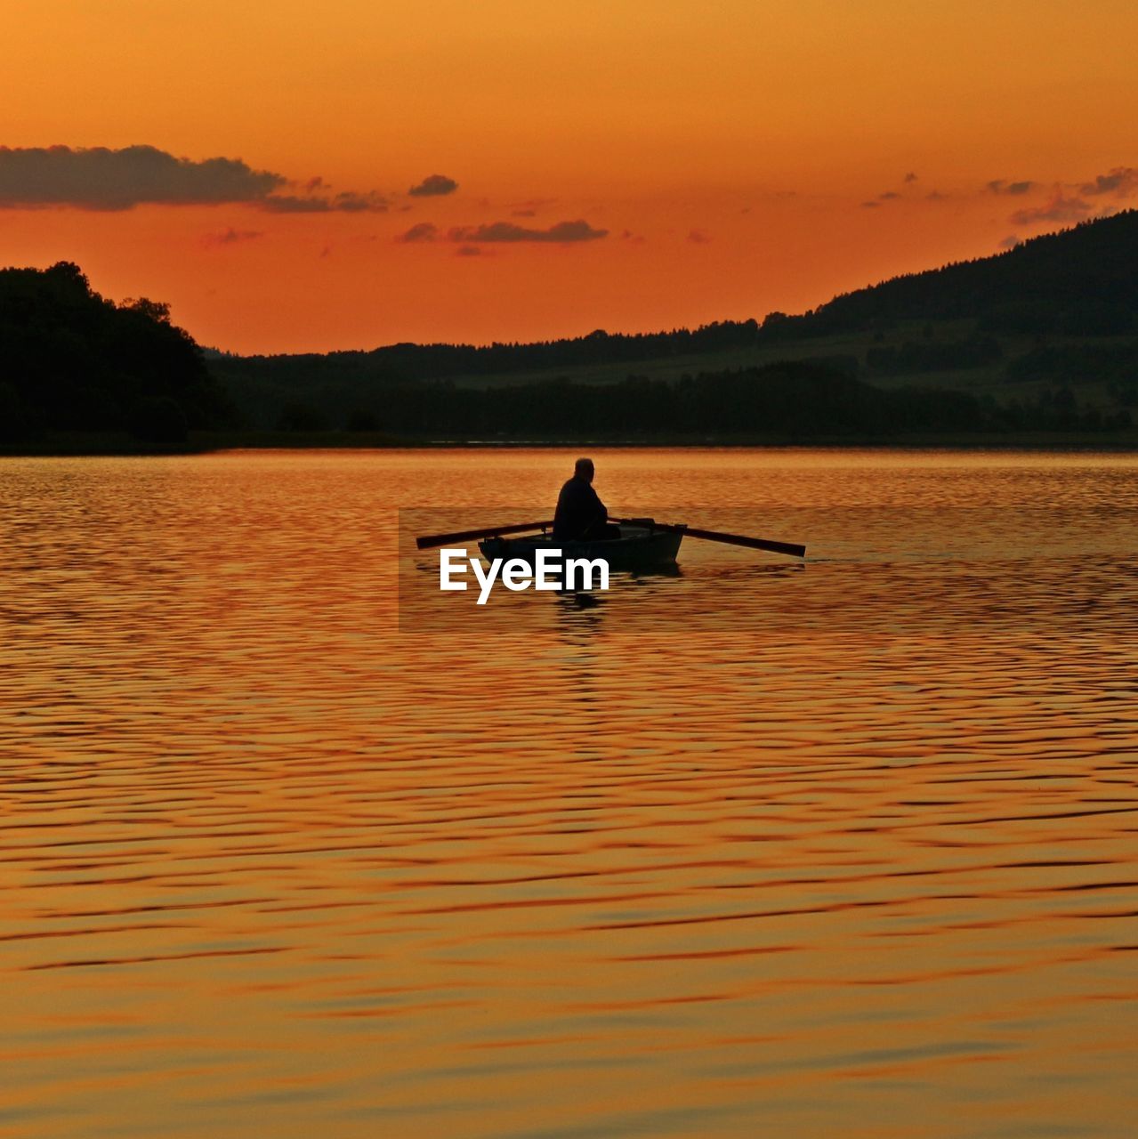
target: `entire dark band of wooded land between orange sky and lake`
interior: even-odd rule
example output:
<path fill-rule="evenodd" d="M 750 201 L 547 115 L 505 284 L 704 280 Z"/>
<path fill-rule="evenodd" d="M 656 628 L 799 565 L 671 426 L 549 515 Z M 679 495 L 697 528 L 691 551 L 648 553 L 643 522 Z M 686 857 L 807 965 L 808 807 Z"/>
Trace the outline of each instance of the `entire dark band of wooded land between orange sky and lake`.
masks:
<path fill-rule="evenodd" d="M 0 271 L 0 443 L 52 433 L 717 439 L 1089 432 L 1138 407 L 1138 212 L 696 329 L 237 357 L 80 269 Z"/>

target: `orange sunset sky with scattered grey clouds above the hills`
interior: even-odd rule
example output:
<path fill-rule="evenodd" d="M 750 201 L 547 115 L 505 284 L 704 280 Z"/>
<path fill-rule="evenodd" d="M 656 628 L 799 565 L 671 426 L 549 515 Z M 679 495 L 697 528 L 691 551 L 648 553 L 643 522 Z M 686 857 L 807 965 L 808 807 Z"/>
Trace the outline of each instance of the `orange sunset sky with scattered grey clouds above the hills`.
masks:
<path fill-rule="evenodd" d="M 6 0 L 5 24 L 0 262 L 75 261 L 230 351 L 761 319 L 1138 204 L 1132 0 Z"/>

